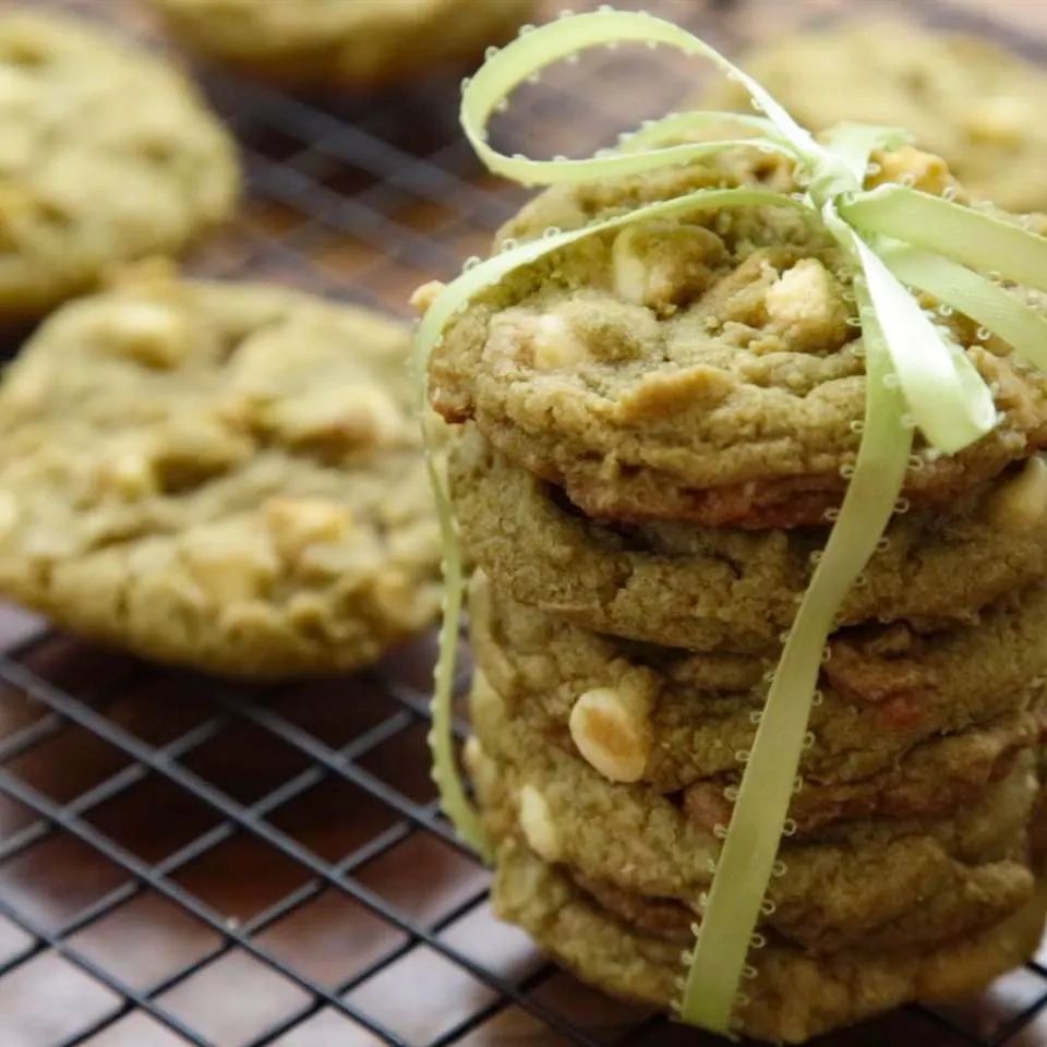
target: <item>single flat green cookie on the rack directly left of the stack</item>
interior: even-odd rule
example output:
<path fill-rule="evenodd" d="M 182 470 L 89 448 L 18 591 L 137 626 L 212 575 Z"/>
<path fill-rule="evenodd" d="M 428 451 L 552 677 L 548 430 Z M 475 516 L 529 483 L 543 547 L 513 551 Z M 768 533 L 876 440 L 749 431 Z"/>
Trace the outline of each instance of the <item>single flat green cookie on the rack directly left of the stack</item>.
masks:
<path fill-rule="evenodd" d="M 262 285 L 65 306 L 0 386 L 0 593 L 234 676 L 373 661 L 440 602 L 409 340 Z"/>

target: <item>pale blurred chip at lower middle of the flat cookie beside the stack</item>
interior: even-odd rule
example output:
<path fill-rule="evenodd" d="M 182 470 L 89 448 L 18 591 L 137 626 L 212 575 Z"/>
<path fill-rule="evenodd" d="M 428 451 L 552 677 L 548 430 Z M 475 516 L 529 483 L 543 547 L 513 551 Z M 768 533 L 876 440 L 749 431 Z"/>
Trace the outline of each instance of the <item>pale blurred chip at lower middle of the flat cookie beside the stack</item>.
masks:
<path fill-rule="evenodd" d="M 260 597 L 277 570 L 264 537 L 238 527 L 190 534 L 182 556 L 196 585 L 220 605 Z"/>

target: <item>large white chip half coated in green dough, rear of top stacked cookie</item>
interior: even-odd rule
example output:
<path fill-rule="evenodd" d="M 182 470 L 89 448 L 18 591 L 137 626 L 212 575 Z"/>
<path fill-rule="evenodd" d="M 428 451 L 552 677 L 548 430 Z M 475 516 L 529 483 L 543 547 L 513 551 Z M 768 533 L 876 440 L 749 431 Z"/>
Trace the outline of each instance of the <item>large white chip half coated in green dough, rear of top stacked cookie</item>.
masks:
<path fill-rule="evenodd" d="M 634 305 L 672 311 L 712 282 L 723 241 L 701 226 L 649 221 L 628 226 L 611 249 L 615 293 Z"/>

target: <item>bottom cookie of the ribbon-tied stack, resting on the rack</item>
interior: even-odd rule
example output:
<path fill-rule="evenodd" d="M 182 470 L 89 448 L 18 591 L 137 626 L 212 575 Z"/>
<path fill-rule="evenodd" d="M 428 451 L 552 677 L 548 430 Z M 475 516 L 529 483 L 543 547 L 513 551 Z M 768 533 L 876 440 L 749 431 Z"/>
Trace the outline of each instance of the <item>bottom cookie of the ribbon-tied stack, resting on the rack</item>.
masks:
<path fill-rule="evenodd" d="M 583 980 L 660 1008 L 678 998 L 678 941 L 635 929 L 516 841 L 498 852 L 493 899 L 502 918 L 524 927 Z M 801 1044 L 902 1003 L 975 992 L 1033 954 L 1045 911 L 1040 882 L 1003 920 L 939 947 L 814 956 L 769 943 L 750 954 L 757 973 L 745 985 L 749 1002 L 741 1009 L 738 1031 Z"/>

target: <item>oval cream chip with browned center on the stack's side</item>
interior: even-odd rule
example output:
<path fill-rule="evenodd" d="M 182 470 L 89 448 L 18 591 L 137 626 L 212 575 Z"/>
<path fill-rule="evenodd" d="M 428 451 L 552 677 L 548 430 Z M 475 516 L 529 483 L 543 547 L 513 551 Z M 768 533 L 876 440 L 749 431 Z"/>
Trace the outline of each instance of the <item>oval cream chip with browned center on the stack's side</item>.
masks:
<path fill-rule="evenodd" d="M 635 687 L 598 687 L 579 696 L 568 726 L 578 751 L 612 782 L 637 782 L 651 753 L 650 699 Z"/>

